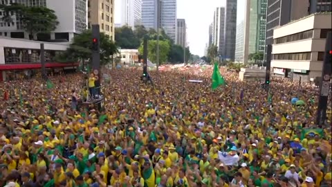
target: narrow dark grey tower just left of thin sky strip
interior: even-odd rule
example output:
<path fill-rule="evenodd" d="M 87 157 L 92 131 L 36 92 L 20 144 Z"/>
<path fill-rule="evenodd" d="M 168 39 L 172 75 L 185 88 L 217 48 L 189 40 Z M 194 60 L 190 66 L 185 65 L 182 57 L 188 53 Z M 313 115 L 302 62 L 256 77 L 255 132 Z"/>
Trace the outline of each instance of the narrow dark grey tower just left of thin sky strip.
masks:
<path fill-rule="evenodd" d="M 225 10 L 225 55 L 223 58 L 234 61 L 237 38 L 237 0 L 227 0 Z"/>

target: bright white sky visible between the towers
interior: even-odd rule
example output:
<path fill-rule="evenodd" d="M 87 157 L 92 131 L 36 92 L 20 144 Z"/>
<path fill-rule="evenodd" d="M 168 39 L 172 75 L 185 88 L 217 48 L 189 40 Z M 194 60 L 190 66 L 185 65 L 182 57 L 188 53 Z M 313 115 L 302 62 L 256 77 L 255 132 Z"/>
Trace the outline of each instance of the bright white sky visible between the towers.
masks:
<path fill-rule="evenodd" d="M 120 9 L 115 4 L 115 22 L 120 22 Z M 237 0 L 237 23 L 244 19 L 244 3 L 246 0 Z M 187 24 L 187 44 L 194 55 L 203 56 L 205 44 L 209 40 L 209 26 L 213 21 L 214 9 L 225 7 L 226 0 L 177 0 L 177 17 L 185 19 Z"/>

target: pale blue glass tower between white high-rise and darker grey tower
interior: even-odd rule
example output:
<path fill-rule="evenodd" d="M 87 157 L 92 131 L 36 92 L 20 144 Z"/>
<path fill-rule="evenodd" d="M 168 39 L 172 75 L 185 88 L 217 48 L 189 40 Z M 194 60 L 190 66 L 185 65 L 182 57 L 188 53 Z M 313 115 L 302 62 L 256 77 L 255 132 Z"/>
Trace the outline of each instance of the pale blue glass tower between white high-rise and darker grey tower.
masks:
<path fill-rule="evenodd" d="M 154 28 L 156 30 L 158 22 L 160 27 L 160 21 L 161 0 L 142 0 L 142 25 L 147 29 Z"/>

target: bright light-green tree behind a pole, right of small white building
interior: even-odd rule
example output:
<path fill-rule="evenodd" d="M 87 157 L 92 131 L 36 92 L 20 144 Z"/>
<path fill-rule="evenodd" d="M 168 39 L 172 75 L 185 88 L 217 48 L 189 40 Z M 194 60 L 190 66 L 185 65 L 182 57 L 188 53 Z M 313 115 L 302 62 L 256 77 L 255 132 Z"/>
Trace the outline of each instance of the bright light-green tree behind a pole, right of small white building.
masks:
<path fill-rule="evenodd" d="M 169 41 L 159 41 L 159 62 L 167 62 L 167 57 L 169 53 Z M 142 54 L 143 53 L 143 44 L 140 45 L 138 51 Z M 151 62 L 155 62 L 157 60 L 157 41 L 156 40 L 149 40 L 147 45 L 147 57 Z"/>

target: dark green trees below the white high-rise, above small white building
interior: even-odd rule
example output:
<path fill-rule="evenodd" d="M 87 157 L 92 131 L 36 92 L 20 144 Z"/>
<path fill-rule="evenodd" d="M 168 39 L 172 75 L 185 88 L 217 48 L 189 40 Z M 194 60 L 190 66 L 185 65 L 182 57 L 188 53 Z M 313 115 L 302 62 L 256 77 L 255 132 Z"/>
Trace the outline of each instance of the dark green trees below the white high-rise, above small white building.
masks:
<path fill-rule="evenodd" d="M 128 26 L 116 28 L 116 45 L 120 48 L 138 48 L 140 46 L 140 39 L 133 33 L 133 30 Z"/>

